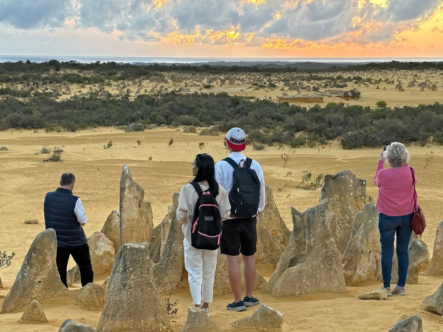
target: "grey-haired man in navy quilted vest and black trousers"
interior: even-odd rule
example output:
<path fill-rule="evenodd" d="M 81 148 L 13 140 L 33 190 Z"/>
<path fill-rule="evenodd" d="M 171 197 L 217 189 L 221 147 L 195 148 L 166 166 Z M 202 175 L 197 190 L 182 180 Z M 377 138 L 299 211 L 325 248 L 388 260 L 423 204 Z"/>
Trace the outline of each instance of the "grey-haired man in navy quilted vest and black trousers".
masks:
<path fill-rule="evenodd" d="M 57 270 L 66 288 L 66 268 L 70 255 L 80 270 L 82 286 L 93 282 L 94 276 L 88 239 L 82 228 L 88 219 L 82 201 L 72 193 L 74 185 L 74 174 L 63 173 L 60 187 L 46 194 L 44 205 L 46 229 L 54 228 L 57 235 Z"/>

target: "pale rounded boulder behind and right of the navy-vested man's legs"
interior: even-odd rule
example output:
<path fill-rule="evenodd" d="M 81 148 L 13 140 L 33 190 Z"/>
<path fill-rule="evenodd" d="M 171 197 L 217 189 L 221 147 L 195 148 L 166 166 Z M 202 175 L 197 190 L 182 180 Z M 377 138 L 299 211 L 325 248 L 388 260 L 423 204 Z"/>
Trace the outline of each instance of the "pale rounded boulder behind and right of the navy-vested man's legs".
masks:
<path fill-rule="evenodd" d="M 94 276 L 111 272 L 115 258 L 115 250 L 111 240 L 101 232 L 94 232 L 94 234 L 88 238 L 88 246 Z M 70 285 L 80 279 L 78 265 L 68 271 L 67 278 L 69 279 Z"/>

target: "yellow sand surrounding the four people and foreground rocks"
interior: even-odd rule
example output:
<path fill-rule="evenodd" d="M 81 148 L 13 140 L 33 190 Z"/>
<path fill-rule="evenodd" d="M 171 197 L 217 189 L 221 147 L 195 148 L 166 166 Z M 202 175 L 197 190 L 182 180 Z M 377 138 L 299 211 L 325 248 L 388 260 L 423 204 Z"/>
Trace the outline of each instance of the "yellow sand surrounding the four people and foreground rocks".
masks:
<path fill-rule="evenodd" d="M 435 81 L 435 79 L 434 79 Z M 440 79 L 440 81 L 443 81 Z M 390 85 L 390 88 L 393 88 Z M 360 88 L 359 88 L 360 89 Z M 366 89 L 366 88 L 365 88 Z M 418 91 L 396 92 L 361 89 L 364 98 L 373 98 L 373 102 L 385 99 L 388 104 L 419 104 L 426 100 L 427 94 L 439 95 L 435 100 L 443 101 L 441 86 L 439 90 L 420 93 Z M 214 89 L 215 90 L 215 89 Z M 369 91 L 377 94 L 370 97 Z M 263 92 L 264 93 L 264 92 Z M 279 92 L 280 93 L 280 92 Z M 271 93 L 267 94 L 272 96 Z M 368 104 L 368 99 L 365 103 Z M 372 99 L 371 99 L 372 100 Z M 359 103 L 360 101 L 355 101 Z M 20 265 L 35 236 L 44 229 L 43 200 L 48 191 L 58 186 L 60 174 L 73 172 L 77 177 L 74 193 L 82 198 L 88 215 L 85 225 L 87 236 L 100 231 L 109 213 L 119 206 L 119 183 L 122 166 L 127 164 L 132 177 L 145 190 L 144 199 L 152 202 L 154 226 L 159 224 L 171 205 L 172 194 L 179 192 L 181 186 L 191 180 L 191 162 L 195 154 L 206 152 L 215 160 L 227 155 L 223 146 L 223 134 L 220 136 L 198 136 L 185 134 L 169 128 L 158 128 L 143 132 L 126 133 L 114 128 L 97 128 L 75 133 L 45 133 L 44 131 L 3 131 L 0 132 L 0 147 L 9 151 L 0 151 L 0 249 L 16 257 L 12 265 L 0 270 L 4 288 L 0 288 L 0 305 L 11 288 Z M 174 143 L 167 143 L 173 138 Z M 137 147 L 136 141 L 141 145 Z M 109 141 L 113 147 L 103 149 Z M 198 143 L 205 142 L 199 149 Z M 64 145 L 66 151 L 61 162 L 45 162 L 47 155 L 35 154 L 42 147 L 53 148 Z M 434 151 L 432 164 L 425 166 L 425 154 Z M 416 167 L 419 183 L 420 205 L 427 217 L 427 228 L 422 237 L 432 255 L 435 230 L 442 220 L 443 206 L 443 148 L 439 145 L 418 147 L 410 146 L 410 165 Z M 272 186 L 273 195 L 280 215 L 292 229 L 290 207 L 299 211 L 315 206 L 319 201 L 320 189 L 305 190 L 297 188 L 302 178 L 302 171 L 335 174 L 340 170 L 351 170 L 358 178 L 367 179 L 367 193 L 377 198 L 377 187 L 373 185 L 373 174 L 377 166 L 378 149 L 343 150 L 336 141 L 330 145 L 315 148 L 289 150 L 288 147 L 267 147 L 255 151 L 247 147 L 246 154 L 256 159 L 263 167 L 265 182 Z M 281 154 L 289 155 L 289 162 L 284 162 Z M 152 160 L 149 160 L 152 157 Z M 291 173 L 290 173 L 291 172 Z M 25 219 L 38 219 L 39 224 L 24 224 Z M 69 268 L 74 266 L 71 259 Z M 268 279 L 272 274 L 270 266 L 257 267 Z M 101 284 L 106 276 L 95 282 Z M 254 296 L 284 315 L 283 330 L 289 331 L 388 331 L 403 314 L 419 314 L 423 318 L 424 331 L 443 330 L 442 317 L 428 312 L 421 307 L 424 297 L 437 290 L 443 278 L 420 274 L 418 285 L 407 285 L 405 297 L 389 297 L 385 301 L 358 300 L 357 295 L 381 287 L 381 282 L 370 282 L 365 286 L 347 287 L 347 294 L 317 293 L 303 297 L 276 298 L 269 294 L 255 292 Z M 79 288 L 78 283 L 74 288 Z M 179 311 L 172 320 L 177 330 L 186 321 L 187 307 L 191 305 L 189 290 L 173 293 L 171 299 L 179 300 Z M 250 316 L 255 309 L 243 313 L 228 312 L 227 303 L 230 295 L 215 297 L 210 305 L 211 319 L 219 326 L 225 326 L 240 317 Z M 87 310 L 79 302 L 63 297 L 41 301 L 49 324 L 20 324 L 17 321 L 26 308 L 13 313 L 0 315 L 0 330 L 50 332 L 58 331 L 64 320 L 72 318 L 97 326 L 101 311 Z"/>

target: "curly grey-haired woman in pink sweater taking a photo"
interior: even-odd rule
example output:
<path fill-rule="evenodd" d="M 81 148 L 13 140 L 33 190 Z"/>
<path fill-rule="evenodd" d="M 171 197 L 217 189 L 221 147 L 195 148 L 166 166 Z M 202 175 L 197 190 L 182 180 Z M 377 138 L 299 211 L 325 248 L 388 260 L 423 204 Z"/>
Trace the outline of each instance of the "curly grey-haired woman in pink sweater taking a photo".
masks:
<path fill-rule="evenodd" d="M 391 143 L 386 151 L 381 151 L 374 184 L 377 185 L 378 229 L 381 242 L 382 289 L 392 294 L 406 295 L 404 284 L 408 274 L 408 245 L 412 234 L 411 220 L 414 215 L 414 184 L 416 171 L 409 167 L 409 153 L 402 143 Z M 383 168 L 387 162 L 390 168 Z M 396 252 L 398 261 L 398 280 L 391 290 L 392 255 L 394 235 L 397 237 Z"/>

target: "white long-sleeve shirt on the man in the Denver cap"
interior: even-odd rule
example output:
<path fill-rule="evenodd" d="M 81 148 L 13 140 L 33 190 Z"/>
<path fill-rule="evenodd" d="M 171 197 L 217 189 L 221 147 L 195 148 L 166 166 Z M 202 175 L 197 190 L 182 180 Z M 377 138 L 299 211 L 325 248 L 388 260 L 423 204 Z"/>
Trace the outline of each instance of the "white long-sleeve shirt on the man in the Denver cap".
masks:
<path fill-rule="evenodd" d="M 233 153 L 229 154 L 229 158 L 232 158 L 237 164 L 241 161 L 241 159 L 246 160 L 245 155 L 240 151 L 234 151 Z M 252 161 L 251 170 L 255 170 L 258 178 L 260 179 L 260 203 L 258 205 L 258 212 L 261 212 L 266 206 L 263 170 L 261 169 L 260 164 L 255 160 Z M 234 182 L 232 175 L 233 172 L 234 169 L 228 162 L 221 160 L 215 164 L 215 179 L 223 188 L 226 189 L 228 193 L 231 191 Z M 233 218 L 229 217 L 229 219 Z"/>

